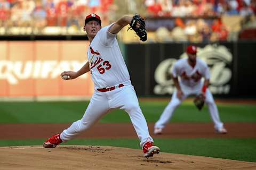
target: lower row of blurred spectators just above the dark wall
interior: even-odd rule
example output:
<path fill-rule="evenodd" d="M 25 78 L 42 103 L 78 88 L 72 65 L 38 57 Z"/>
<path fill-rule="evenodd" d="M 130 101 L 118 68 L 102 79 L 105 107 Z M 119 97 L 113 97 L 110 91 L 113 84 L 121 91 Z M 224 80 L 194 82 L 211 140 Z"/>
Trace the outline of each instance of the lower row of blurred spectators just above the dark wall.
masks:
<path fill-rule="evenodd" d="M 229 37 L 229 29 L 221 21 L 215 18 L 211 24 L 204 19 L 190 19 L 183 21 L 181 18 L 175 19 L 175 26 L 172 30 L 159 27 L 156 30 L 157 41 L 190 41 L 193 43 L 210 43 L 216 41 L 226 41 Z"/>

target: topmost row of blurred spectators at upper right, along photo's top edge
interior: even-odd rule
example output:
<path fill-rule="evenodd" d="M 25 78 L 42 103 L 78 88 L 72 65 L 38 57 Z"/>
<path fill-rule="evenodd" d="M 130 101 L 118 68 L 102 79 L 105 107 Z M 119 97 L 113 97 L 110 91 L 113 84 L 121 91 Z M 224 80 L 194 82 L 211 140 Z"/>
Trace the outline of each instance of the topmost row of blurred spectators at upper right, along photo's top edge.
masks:
<path fill-rule="evenodd" d="M 256 14 L 255 0 L 145 0 L 153 16 L 220 16 Z"/>

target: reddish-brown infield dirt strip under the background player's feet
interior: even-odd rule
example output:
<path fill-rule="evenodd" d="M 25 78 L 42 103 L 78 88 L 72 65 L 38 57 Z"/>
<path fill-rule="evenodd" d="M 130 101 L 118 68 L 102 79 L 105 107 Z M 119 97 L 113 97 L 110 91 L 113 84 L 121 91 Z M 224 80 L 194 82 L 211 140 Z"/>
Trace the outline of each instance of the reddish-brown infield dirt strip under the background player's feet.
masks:
<path fill-rule="evenodd" d="M 53 134 L 61 133 L 69 126 L 70 124 L 0 124 L 0 139 L 46 140 Z M 164 129 L 164 134 L 153 135 L 154 124 L 148 124 L 149 132 L 153 138 L 256 138 L 256 123 L 225 123 L 225 127 L 228 133 L 223 135 L 214 132 L 212 123 L 170 123 Z M 79 138 L 138 139 L 131 123 L 97 123 L 79 135 L 77 139 Z"/>

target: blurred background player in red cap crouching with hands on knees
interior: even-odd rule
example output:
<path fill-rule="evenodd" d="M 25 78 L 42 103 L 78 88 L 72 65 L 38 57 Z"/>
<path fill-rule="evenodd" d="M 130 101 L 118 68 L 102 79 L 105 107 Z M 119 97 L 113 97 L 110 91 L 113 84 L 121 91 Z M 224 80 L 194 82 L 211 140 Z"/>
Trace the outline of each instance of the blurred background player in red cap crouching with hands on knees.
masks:
<path fill-rule="evenodd" d="M 214 128 L 218 133 L 227 133 L 220 121 L 217 106 L 214 103 L 213 96 L 207 88 L 210 83 L 210 71 L 205 62 L 196 57 L 196 46 L 187 47 L 188 58 L 182 58 L 173 65 L 172 79 L 175 90 L 170 103 L 164 109 L 159 120 L 154 127 L 154 134 L 161 134 L 166 123 L 169 122 L 174 110 L 189 95 L 203 95 L 208 106 Z M 201 81 L 204 78 L 204 81 Z"/>

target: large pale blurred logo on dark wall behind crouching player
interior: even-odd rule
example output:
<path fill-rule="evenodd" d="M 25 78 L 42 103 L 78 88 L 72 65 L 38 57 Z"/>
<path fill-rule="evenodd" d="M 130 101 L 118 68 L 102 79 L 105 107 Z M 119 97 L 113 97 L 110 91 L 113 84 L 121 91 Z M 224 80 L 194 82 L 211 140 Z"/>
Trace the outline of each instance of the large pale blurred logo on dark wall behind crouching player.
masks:
<path fill-rule="evenodd" d="M 161 61 L 154 74 L 156 85 L 153 93 L 156 95 L 173 94 L 174 83 L 170 77 L 173 64 L 180 58 L 187 57 L 185 52 L 181 52 L 178 57 L 166 58 Z M 209 67 L 211 73 L 210 90 L 212 94 L 230 94 L 230 83 L 232 78 L 233 55 L 230 49 L 223 45 L 206 45 L 197 48 L 197 57 L 201 58 Z"/>

